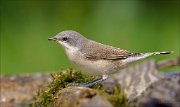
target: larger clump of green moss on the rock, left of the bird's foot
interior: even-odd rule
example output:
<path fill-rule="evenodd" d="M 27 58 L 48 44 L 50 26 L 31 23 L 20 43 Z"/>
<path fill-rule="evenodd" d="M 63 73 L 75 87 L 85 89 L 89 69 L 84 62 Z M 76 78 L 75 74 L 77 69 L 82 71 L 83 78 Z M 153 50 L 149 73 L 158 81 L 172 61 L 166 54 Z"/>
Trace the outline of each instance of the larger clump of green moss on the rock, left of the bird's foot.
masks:
<path fill-rule="evenodd" d="M 53 73 L 51 76 L 53 78 L 52 83 L 45 89 L 37 92 L 36 101 L 33 104 L 34 107 L 41 105 L 45 107 L 50 106 L 54 99 L 54 94 L 56 94 L 58 90 L 65 88 L 69 83 L 87 82 L 93 79 L 93 77 L 83 75 L 80 71 L 74 72 L 72 69 Z"/>

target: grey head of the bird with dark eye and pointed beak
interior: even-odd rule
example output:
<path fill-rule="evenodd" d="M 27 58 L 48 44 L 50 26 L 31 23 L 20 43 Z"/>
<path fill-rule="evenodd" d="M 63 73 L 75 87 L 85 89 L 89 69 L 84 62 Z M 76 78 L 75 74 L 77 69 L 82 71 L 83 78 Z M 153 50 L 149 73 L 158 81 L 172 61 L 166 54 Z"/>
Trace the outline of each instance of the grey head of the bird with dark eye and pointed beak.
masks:
<path fill-rule="evenodd" d="M 69 48 L 69 47 L 79 47 L 87 39 L 76 31 L 66 30 L 60 32 L 59 34 L 57 34 L 52 38 L 49 38 L 48 40 L 56 41 L 65 48 Z"/>

